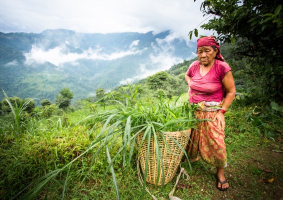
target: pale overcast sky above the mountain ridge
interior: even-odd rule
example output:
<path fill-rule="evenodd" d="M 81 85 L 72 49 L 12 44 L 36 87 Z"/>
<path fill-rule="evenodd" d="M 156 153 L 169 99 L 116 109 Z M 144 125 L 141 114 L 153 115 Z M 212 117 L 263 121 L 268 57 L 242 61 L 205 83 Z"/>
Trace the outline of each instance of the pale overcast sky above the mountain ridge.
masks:
<path fill-rule="evenodd" d="M 1 32 L 171 30 L 187 37 L 206 17 L 202 0 L 0 0 Z M 200 31 L 200 34 L 202 32 Z M 211 34 L 203 32 L 203 34 Z"/>

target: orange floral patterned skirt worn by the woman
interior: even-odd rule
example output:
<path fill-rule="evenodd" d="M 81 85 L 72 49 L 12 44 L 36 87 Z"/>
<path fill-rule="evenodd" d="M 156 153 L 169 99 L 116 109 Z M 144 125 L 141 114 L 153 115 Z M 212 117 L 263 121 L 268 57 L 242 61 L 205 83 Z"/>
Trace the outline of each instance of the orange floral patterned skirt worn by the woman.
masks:
<path fill-rule="evenodd" d="M 216 111 L 196 110 L 198 119 L 213 119 Z M 227 163 L 226 145 L 224 143 L 224 130 L 217 127 L 217 120 L 203 120 L 197 123 L 190 135 L 188 157 L 194 159 L 199 154 L 201 158 L 216 167 L 225 167 Z"/>

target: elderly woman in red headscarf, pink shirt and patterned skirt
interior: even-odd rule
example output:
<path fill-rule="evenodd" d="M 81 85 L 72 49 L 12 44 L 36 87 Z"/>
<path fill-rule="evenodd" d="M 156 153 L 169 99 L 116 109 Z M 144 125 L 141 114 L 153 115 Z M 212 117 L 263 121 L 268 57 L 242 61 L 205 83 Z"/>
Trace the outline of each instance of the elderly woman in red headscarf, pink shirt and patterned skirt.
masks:
<path fill-rule="evenodd" d="M 199 152 L 204 161 L 216 167 L 216 187 L 224 191 L 229 187 L 224 176 L 227 166 L 224 113 L 235 96 L 234 80 L 213 36 L 197 40 L 197 58 L 185 74 L 189 102 L 200 105 L 195 111 L 197 118 L 211 120 L 198 122 L 192 130 L 187 153 L 190 161 L 196 161 Z"/>

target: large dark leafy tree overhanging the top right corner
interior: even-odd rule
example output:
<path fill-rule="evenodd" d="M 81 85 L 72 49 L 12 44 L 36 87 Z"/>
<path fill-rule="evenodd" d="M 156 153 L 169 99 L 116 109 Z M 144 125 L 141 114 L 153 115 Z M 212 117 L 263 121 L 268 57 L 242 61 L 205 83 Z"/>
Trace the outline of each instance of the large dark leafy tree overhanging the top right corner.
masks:
<path fill-rule="evenodd" d="M 194 0 L 195 1 L 195 0 Z M 204 0 L 204 15 L 212 16 L 200 27 L 215 30 L 216 39 L 235 44 L 234 55 L 250 57 L 261 79 L 263 94 L 283 96 L 283 9 L 281 0 Z M 197 36 L 197 29 L 189 32 Z M 263 96 L 263 95 L 262 95 Z"/>

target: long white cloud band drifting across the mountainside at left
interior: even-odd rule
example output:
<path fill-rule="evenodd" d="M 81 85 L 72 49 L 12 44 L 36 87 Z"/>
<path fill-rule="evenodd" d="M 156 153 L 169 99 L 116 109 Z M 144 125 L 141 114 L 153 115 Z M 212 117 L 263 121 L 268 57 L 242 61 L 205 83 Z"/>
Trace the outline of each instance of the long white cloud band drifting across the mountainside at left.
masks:
<path fill-rule="evenodd" d="M 88 48 L 82 51 L 82 53 L 72 53 L 69 52 L 65 45 L 56 46 L 54 48 L 44 50 L 42 47 L 32 45 L 31 50 L 28 53 L 24 53 L 25 64 L 32 63 L 44 63 L 46 61 L 60 66 L 66 62 L 77 63 L 78 59 L 102 59 L 102 60 L 113 60 L 118 59 L 127 55 L 134 55 L 137 53 L 142 53 L 143 50 L 129 49 L 127 51 L 113 52 L 111 54 L 100 53 L 101 48 Z"/>

